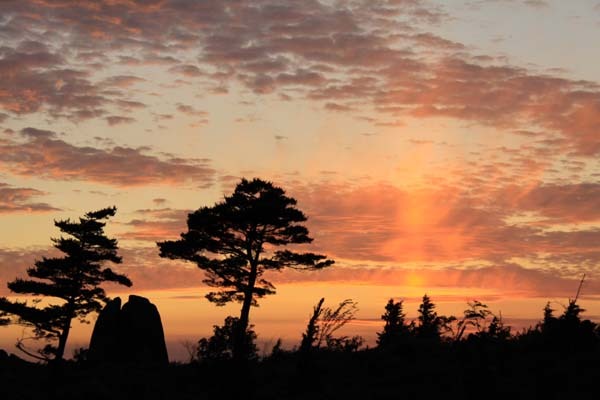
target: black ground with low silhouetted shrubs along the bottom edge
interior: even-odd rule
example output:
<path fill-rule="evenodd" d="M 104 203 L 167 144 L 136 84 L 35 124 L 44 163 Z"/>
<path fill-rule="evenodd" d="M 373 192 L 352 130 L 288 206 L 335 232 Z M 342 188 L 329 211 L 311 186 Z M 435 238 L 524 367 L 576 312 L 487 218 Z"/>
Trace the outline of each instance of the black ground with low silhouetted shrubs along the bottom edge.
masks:
<path fill-rule="evenodd" d="M 443 326 L 439 329 L 439 340 L 419 339 L 415 336 L 418 322 L 407 325 L 404 321 L 410 339 L 404 342 L 403 351 L 390 351 L 393 347 L 379 346 L 377 350 L 361 349 L 348 353 L 356 350 L 356 342 L 348 337 L 345 337 L 346 342 L 338 341 L 344 337 L 338 338 L 335 334 L 329 336 L 333 340 L 326 338 L 320 347 L 316 347 L 321 332 L 319 317 L 327 308 L 323 300 L 315 306 L 310 318 L 314 328 L 310 331 L 315 333 L 305 334 L 305 337 L 314 338 L 310 357 L 305 357 L 302 352 L 284 351 L 278 343 L 271 357 L 242 365 L 231 362 L 236 318 L 229 317 L 223 326 L 214 327 L 213 337 L 204 339 L 199 345 L 202 354 L 197 356 L 218 362 L 172 364 L 156 371 L 147 366 L 127 367 L 113 372 L 106 368 L 90 368 L 89 364 L 67 363 L 64 367 L 72 366 L 72 369 L 69 372 L 68 368 L 60 368 L 64 377 L 61 382 L 66 383 L 64 393 L 71 397 L 83 397 L 100 388 L 104 390 L 101 398 L 132 398 L 140 393 L 144 398 L 168 398 L 175 392 L 182 398 L 217 397 L 223 393 L 229 397 L 261 399 L 393 398 L 399 387 L 411 398 L 418 398 L 425 392 L 426 397 L 450 398 L 470 398 L 489 392 L 515 398 L 579 398 L 597 392 L 595 382 L 600 375 L 595 365 L 600 347 L 593 329 L 591 342 L 571 345 L 572 341 L 580 341 L 580 334 L 587 335 L 592 325 L 581 317 L 583 310 L 576 302 L 569 304 L 571 307 L 566 306 L 556 317 L 547 307 L 546 318 L 537 328 L 511 336 L 501 315 L 483 312 L 489 308 L 473 301 L 468 303 L 461 317 L 465 322 L 462 325 L 459 325 L 460 321 L 453 322 L 456 328 L 467 326 L 458 340 L 447 335 Z M 384 321 L 398 321 L 401 318 L 396 317 L 403 315 L 403 311 L 393 300 L 388 302 Z M 317 317 L 312 318 L 315 315 Z M 437 318 L 442 324 L 449 320 L 449 317 L 439 315 Z M 566 329 L 563 323 L 565 327 L 578 326 L 569 331 L 575 332 L 574 336 L 557 335 L 557 340 L 567 338 L 567 341 L 548 342 L 546 335 L 549 332 Z M 544 327 L 544 324 L 549 325 Z M 255 335 L 249 334 L 253 341 Z M 560 343 L 567 345 L 556 345 Z M 256 346 L 253 351 L 255 354 Z M 10 368 L 4 370 L 9 373 L 18 370 L 19 364 L 7 357 L 0 351 L 0 367 L 9 365 Z M 48 370 L 53 368 L 40 370 L 27 366 L 20 369 L 20 378 L 9 375 L 4 387 L 21 385 L 29 388 L 38 384 L 40 394 L 21 397 L 44 398 L 50 382 L 48 377 L 52 376 L 46 372 Z M 55 386 L 55 382 L 52 384 Z M 122 388 L 128 392 L 124 394 Z"/>

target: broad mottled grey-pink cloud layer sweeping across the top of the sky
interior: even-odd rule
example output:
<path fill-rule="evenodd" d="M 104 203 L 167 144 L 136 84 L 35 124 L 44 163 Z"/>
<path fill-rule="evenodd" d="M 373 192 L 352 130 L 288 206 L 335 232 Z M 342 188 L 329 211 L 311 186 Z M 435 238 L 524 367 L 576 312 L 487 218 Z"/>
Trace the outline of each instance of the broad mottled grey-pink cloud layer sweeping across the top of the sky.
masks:
<path fill-rule="evenodd" d="M 561 151 L 600 152 L 597 83 L 471 54 L 428 31 L 451 17 L 424 0 L 14 0 L 3 2 L 2 14 L 0 72 L 9 79 L 0 83 L 0 108 L 14 115 L 130 123 L 127 102 L 144 104 L 123 89 L 146 83 L 136 67 L 162 66 L 214 91 L 231 82 L 330 111 L 360 106 L 379 113 L 379 123 L 449 117 L 537 128 L 558 134 Z M 96 79 L 107 63 L 134 69 Z"/>

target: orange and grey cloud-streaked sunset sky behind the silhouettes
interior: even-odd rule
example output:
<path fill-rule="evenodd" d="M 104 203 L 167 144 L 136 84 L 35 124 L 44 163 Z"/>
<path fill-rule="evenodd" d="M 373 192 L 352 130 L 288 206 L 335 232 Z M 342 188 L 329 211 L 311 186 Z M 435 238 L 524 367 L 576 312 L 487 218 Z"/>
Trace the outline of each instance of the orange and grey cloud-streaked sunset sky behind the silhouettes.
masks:
<path fill-rule="evenodd" d="M 239 305 L 155 242 L 259 177 L 336 261 L 270 275 L 264 347 L 297 344 L 321 297 L 357 301 L 369 343 L 388 298 L 414 317 L 424 293 L 522 328 L 583 274 L 600 319 L 599 34 L 598 0 L 4 0 L 0 296 L 53 254 L 55 219 L 115 205 L 133 287 L 108 294 L 147 296 L 184 359 Z"/>

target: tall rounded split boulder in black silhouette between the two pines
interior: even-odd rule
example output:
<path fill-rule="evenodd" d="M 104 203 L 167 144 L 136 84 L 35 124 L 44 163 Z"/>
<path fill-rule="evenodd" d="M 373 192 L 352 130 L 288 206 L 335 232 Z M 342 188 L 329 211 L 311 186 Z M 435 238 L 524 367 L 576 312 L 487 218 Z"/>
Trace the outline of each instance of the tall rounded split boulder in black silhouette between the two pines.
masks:
<path fill-rule="evenodd" d="M 167 364 L 165 335 L 156 306 L 131 295 L 109 302 L 94 326 L 88 359 L 93 362 Z"/>

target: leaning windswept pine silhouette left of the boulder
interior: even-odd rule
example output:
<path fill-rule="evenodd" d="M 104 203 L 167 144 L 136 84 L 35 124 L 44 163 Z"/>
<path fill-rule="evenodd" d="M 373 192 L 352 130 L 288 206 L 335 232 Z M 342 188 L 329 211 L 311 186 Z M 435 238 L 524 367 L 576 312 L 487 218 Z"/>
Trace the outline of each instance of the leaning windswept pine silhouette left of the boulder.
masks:
<path fill-rule="evenodd" d="M 32 357 L 42 360 L 62 360 L 71 321 L 74 318 L 86 322 L 86 316 L 101 310 L 107 301 L 103 282 L 115 282 L 131 286 L 124 275 L 103 268 L 107 261 L 118 264 L 117 241 L 104 234 L 103 220 L 115 215 L 116 208 L 110 207 L 88 212 L 78 221 L 69 219 L 55 221 L 54 225 L 68 237 L 52 239 L 54 247 L 63 252 L 63 257 L 42 258 L 35 262 L 27 274 L 33 279 L 15 279 L 8 288 L 17 294 L 58 298 L 61 304 L 38 307 L 41 299 L 32 305 L 27 302 L 0 298 L 0 310 L 13 319 L 11 322 L 33 329 L 33 339 L 44 339 L 47 345 L 30 353 L 21 339 L 17 347 Z M 58 344 L 54 344 L 58 341 Z"/>

